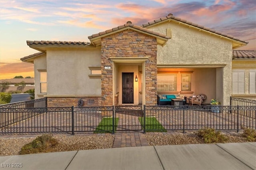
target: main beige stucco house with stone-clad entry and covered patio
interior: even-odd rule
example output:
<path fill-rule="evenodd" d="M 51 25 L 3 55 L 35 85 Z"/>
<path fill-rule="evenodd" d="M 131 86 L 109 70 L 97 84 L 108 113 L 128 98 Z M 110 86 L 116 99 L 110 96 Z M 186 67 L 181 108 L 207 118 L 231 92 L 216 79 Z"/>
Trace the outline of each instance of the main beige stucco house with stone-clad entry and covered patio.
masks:
<path fill-rule="evenodd" d="M 229 105 L 233 49 L 247 41 L 172 14 L 96 33 L 88 42 L 27 41 L 35 98 L 51 106 L 157 104 L 158 94 L 196 94 Z"/>

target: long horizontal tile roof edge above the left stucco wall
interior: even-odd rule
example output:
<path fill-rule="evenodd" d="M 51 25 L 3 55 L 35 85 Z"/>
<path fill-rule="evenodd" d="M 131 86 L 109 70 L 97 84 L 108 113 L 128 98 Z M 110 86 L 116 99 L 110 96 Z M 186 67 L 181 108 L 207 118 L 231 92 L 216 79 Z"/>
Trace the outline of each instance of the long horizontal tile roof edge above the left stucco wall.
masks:
<path fill-rule="evenodd" d="M 89 42 L 76 41 L 27 41 L 27 45 L 90 45 Z"/>

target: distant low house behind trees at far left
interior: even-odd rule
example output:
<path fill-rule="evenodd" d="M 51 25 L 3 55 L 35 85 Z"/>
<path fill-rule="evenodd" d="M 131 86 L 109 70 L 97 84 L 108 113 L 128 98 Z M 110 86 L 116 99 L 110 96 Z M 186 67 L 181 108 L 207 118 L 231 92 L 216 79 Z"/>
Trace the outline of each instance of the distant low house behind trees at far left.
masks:
<path fill-rule="evenodd" d="M 35 88 L 35 80 L 34 80 L 34 78 L 1 79 L 0 80 L 0 88 L 1 88 L 1 85 L 2 85 L 3 82 L 9 82 L 9 87 L 6 90 L 6 92 L 15 92 L 17 90 L 21 90 L 21 85 L 17 86 L 17 84 L 19 84 L 22 81 L 25 82 L 25 84 L 26 84 L 26 86 L 22 90 L 23 92 Z"/>

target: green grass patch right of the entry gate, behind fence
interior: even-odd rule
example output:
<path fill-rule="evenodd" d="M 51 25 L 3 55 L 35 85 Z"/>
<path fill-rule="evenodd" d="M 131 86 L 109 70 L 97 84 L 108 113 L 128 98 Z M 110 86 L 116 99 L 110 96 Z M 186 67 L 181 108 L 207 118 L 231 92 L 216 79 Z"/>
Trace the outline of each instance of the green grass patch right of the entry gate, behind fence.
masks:
<path fill-rule="evenodd" d="M 144 125 L 143 117 L 139 117 L 140 124 Z M 155 117 L 146 117 L 145 119 L 145 129 L 146 132 L 167 132 L 166 129 L 159 123 Z"/>

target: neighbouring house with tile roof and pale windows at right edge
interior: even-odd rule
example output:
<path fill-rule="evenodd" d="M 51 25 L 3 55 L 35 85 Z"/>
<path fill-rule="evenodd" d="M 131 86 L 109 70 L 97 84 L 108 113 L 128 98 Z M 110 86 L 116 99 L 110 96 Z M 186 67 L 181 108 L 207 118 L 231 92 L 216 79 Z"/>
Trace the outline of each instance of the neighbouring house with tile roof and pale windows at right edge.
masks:
<path fill-rule="evenodd" d="M 256 51 L 233 51 L 232 96 L 256 100 Z"/>

